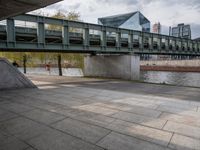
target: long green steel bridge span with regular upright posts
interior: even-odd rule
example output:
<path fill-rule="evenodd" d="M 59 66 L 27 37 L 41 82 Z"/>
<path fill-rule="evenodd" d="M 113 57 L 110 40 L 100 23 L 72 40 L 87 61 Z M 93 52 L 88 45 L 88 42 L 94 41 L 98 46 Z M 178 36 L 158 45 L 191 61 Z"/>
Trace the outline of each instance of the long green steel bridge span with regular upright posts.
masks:
<path fill-rule="evenodd" d="M 18 21 L 31 24 L 20 27 Z M 96 24 L 21 15 L 0 26 L 2 51 L 200 55 L 200 42 Z"/>

